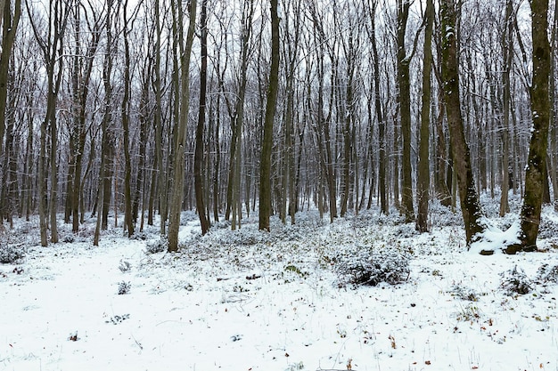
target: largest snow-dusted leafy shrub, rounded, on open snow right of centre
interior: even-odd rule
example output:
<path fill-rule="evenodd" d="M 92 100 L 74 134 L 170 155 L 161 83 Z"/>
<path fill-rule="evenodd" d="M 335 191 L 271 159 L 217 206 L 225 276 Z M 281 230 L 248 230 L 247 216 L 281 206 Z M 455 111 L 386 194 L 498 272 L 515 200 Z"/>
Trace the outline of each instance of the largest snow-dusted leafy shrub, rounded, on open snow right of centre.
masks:
<path fill-rule="evenodd" d="M 406 281 L 410 260 L 409 252 L 401 246 L 363 245 L 350 246 L 332 258 L 341 285 L 367 286 Z"/>

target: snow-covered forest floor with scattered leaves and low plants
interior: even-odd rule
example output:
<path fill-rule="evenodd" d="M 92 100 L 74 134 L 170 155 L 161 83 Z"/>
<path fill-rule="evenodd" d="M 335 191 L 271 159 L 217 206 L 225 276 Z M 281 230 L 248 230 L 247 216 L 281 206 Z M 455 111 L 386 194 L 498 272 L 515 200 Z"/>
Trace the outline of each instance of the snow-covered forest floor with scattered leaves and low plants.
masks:
<path fill-rule="evenodd" d="M 505 218 L 482 200 L 494 225 L 517 222 L 517 198 Z M 158 227 L 111 228 L 94 247 L 94 220 L 76 236 L 61 223 L 65 242 L 41 247 L 37 222 L 18 221 L 3 245 L 25 255 L 0 264 L 0 370 L 558 370 L 558 214 L 544 211 L 544 252 L 513 256 L 467 251 L 442 207 L 431 223 L 420 235 L 397 213 L 310 211 L 201 237 L 185 213 L 167 254 L 152 253 Z M 363 249 L 401 282 L 350 283 Z"/>

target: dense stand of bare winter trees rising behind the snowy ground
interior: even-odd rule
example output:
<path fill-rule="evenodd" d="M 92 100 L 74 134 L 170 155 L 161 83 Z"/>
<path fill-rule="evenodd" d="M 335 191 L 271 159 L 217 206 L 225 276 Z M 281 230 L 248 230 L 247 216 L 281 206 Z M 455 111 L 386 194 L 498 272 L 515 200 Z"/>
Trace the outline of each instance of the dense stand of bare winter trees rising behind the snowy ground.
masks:
<path fill-rule="evenodd" d="M 524 195 L 536 243 L 558 195 L 555 2 L 2 0 L 0 220 L 98 215 L 129 236 L 181 210 L 205 233 L 260 214 L 374 204 L 429 230 L 429 201 L 487 228 Z M 459 202 L 458 202 L 459 201 Z M 459 204 L 459 205 L 458 205 Z M 120 216 L 120 214 L 122 214 Z M 267 221 L 267 222 L 266 222 Z"/>

